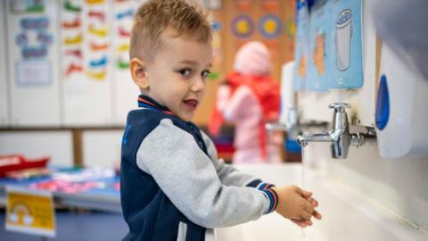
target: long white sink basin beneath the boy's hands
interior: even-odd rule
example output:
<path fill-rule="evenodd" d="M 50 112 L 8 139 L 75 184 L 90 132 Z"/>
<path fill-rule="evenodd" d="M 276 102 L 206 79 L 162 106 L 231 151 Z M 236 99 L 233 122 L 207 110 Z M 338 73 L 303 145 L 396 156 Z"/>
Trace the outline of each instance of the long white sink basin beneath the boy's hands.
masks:
<path fill-rule="evenodd" d="M 253 174 L 276 186 L 302 184 L 300 164 L 238 165 L 237 168 Z M 380 204 L 375 204 L 349 187 L 328 179 L 316 170 L 305 168 L 306 189 L 313 191 L 319 202 L 318 211 L 323 220 L 300 229 L 277 213 L 242 225 L 216 229 L 217 241 L 353 241 L 353 240 L 428 240 L 428 235 L 401 220 Z"/>

